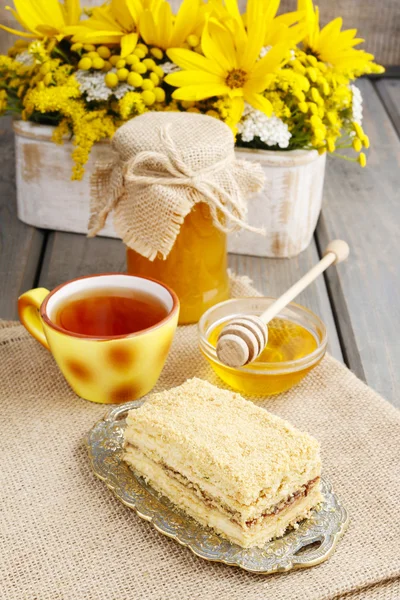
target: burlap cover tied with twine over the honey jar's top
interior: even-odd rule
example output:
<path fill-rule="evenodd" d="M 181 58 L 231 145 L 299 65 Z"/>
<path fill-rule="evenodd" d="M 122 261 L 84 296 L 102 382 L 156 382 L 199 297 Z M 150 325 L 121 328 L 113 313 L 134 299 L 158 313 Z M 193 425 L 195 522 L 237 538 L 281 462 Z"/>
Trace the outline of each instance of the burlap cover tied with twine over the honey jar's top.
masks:
<path fill-rule="evenodd" d="M 89 237 L 110 212 L 123 242 L 153 260 L 167 257 L 195 204 L 224 232 L 246 228 L 247 198 L 260 191 L 259 165 L 237 160 L 225 123 L 196 113 L 145 113 L 118 129 L 115 159 L 92 176 Z"/>

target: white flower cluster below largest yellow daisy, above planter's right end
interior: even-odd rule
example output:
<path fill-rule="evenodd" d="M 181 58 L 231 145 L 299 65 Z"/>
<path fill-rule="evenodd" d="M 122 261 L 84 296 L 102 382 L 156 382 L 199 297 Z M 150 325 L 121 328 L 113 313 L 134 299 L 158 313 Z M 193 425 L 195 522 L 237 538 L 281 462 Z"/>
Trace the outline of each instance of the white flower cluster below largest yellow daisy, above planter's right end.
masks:
<path fill-rule="evenodd" d="M 292 137 L 282 119 L 275 115 L 267 117 L 249 104 L 246 104 L 238 124 L 238 133 L 243 142 L 252 142 L 255 137 L 258 137 L 267 146 L 279 146 L 279 148 L 287 148 Z"/>

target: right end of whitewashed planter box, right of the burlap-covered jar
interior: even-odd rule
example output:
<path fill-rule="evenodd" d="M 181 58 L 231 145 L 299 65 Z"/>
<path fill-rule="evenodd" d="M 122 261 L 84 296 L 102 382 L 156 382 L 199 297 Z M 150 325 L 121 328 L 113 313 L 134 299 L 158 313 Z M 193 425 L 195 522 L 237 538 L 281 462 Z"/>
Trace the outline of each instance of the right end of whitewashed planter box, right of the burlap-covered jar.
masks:
<path fill-rule="evenodd" d="M 311 242 L 321 212 L 326 154 L 316 150 L 237 150 L 240 158 L 261 164 L 266 184 L 249 203 L 249 223 L 264 227 L 261 237 L 241 231 L 228 250 L 253 256 L 296 256 Z"/>

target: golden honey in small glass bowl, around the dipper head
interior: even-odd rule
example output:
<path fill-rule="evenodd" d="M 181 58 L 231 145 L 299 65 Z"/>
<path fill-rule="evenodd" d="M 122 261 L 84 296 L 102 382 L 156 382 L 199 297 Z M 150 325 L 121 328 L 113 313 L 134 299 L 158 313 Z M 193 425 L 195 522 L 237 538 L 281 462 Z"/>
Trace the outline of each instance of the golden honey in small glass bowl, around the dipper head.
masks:
<path fill-rule="evenodd" d="M 208 336 L 214 348 L 226 323 L 218 323 Z M 276 318 L 268 323 L 268 344 L 254 362 L 235 369 L 207 358 L 217 375 L 234 389 L 250 395 L 273 395 L 290 389 L 315 367 L 323 353 L 317 361 L 307 361 L 307 357 L 317 348 L 318 341 L 308 329 Z M 293 361 L 299 361 L 295 368 Z"/>

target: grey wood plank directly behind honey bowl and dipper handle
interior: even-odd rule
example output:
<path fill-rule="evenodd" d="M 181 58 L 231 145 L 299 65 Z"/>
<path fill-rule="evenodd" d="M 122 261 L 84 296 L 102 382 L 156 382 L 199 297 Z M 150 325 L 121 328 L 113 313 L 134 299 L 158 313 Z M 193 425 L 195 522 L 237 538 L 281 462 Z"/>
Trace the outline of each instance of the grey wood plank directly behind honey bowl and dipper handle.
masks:
<path fill-rule="evenodd" d="M 298 257 L 291 259 L 259 258 L 255 256 L 229 256 L 229 267 L 238 275 L 247 275 L 254 287 L 265 296 L 279 296 L 295 283 L 319 260 L 314 242 Z M 328 330 L 328 350 L 338 360 L 343 360 L 340 343 L 323 277 L 302 292 L 296 302 L 314 311 Z"/>

